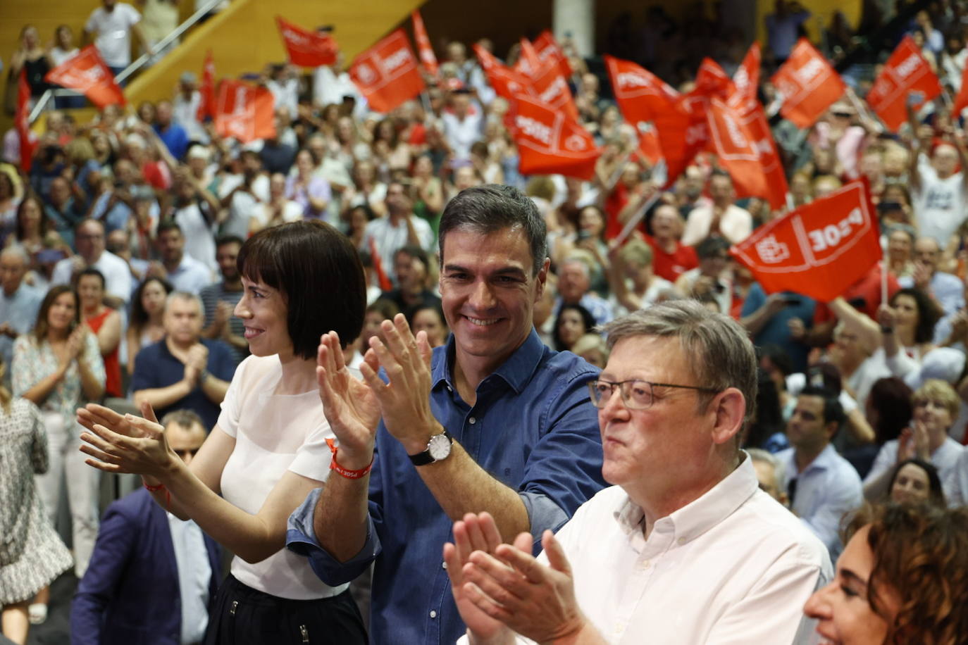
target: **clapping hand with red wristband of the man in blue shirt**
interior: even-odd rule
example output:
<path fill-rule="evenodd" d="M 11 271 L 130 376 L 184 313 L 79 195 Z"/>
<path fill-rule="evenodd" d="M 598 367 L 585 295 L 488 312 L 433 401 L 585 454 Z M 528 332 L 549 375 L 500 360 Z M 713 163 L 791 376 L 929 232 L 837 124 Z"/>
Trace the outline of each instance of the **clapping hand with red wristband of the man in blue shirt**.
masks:
<path fill-rule="evenodd" d="M 378 365 L 371 352 L 360 369 L 376 378 Z M 319 338 L 316 379 L 322 412 L 340 440 L 340 465 L 365 468 L 373 459 L 379 405 L 370 386 L 349 373 L 336 332 Z"/>

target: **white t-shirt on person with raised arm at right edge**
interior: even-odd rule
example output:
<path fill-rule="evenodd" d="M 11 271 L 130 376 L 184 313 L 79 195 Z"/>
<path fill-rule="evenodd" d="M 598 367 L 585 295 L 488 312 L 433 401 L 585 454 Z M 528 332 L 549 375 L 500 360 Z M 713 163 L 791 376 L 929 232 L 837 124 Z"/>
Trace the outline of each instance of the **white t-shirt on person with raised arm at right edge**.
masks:
<path fill-rule="evenodd" d="M 918 232 L 933 237 L 939 247 L 946 249 L 954 231 L 968 217 L 963 176 L 955 172 L 948 179 L 938 179 L 938 173 L 924 155 L 918 160 L 918 173 L 921 190 L 911 194 Z"/>

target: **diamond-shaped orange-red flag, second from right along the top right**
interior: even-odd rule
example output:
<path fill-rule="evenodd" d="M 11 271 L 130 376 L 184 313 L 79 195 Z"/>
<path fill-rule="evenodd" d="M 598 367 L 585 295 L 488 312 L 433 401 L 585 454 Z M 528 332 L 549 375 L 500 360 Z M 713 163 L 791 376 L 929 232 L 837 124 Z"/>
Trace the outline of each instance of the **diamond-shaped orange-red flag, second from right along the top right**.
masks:
<path fill-rule="evenodd" d="M 840 74 L 805 38 L 790 51 L 790 58 L 771 81 L 783 95 L 780 115 L 798 128 L 816 123 L 847 89 Z"/>

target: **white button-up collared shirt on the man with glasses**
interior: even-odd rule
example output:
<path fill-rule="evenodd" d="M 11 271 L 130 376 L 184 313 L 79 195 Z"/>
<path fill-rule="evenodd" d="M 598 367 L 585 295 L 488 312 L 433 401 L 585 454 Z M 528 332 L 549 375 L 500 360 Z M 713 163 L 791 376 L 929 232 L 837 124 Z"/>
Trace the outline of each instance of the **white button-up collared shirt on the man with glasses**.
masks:
<path fill-rule="evenodd" d="M 827 549 L 759 489 L 749 457 L 709 492 L 655 522 L 619 486 L 557 538 L 578 605 L 609 643 L 808 643 L 803 603 L 832 577 Z M 538 558 L 547 564 L 542 553 Z M 519 639 L 519 642 L 529 642 Z"/>

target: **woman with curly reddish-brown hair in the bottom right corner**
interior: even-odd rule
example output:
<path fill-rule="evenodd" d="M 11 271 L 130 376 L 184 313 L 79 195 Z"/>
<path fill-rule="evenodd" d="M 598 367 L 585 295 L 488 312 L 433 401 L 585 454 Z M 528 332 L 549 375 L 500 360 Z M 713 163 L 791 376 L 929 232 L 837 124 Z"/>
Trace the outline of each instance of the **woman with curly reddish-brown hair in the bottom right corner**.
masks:
<path fill-rule="evenodd" d="M 806 601 L 824 642 L 968 643 L 968 509 L 865 507 L 832 582 Z"/>

